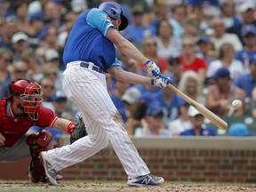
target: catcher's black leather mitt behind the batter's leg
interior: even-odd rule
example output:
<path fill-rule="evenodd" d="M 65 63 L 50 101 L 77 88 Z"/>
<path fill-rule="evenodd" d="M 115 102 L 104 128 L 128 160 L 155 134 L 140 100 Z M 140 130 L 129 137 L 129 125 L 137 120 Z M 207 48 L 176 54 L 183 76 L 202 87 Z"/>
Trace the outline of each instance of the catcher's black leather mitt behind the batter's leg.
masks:
<path fill-rule="evenodd" d="M 79 140 L 80 138 L 86 136 L 88 133 L 86 132 L 86 127 L 84 124 L 84 120 L 82 116 L 78 116 L 78 122 L 73 127 L 73 132 L 71 132 L 70 136 L 70 144 Z"/>

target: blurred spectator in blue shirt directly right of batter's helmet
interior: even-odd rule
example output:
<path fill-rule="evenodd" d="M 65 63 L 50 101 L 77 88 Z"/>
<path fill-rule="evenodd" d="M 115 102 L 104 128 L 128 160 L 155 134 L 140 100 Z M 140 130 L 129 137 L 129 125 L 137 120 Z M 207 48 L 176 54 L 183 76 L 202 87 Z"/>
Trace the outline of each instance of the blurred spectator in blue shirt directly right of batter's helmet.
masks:
<path fill-rule="evenodd" d="M 140 4 L 132 7 L 132 24 L 128 25 L 124 30 L 123 36 L 140 47 L 144 38 L 147 36 L 156 36 L 156 28 L 143 23 L 144 11 Z"/>

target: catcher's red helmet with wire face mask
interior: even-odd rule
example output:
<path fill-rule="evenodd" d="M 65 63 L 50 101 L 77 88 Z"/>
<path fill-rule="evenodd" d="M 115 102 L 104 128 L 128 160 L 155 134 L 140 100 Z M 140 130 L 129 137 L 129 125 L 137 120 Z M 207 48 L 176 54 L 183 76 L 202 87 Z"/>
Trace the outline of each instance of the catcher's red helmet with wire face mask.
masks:
<path fill-rule="evenodd" d="M 12 82 L 9 88 L 12 95 L 20 97 L 24 112 L 28 113 L 28 116 L 36 121 L 38 119 L 38 110 L 43 101 L 41 86 L 36 82 L 20 79 Z"/>

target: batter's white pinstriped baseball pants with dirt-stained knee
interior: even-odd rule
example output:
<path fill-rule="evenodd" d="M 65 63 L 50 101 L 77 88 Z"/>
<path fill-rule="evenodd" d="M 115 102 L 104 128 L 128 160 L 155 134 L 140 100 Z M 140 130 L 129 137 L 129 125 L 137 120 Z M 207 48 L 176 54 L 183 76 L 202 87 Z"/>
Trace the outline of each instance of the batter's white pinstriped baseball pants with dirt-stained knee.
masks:
<path fill-rule="evenodd" d="M 72 145 L 48 151 L 50 163 L 60 171 L 95 155 L 107 147 L 109 140 L 128 179 L 148 174 L 148 166 L 124 130 L 122 117 L 108 95 L 105 75 L 80 67 L 80 62 L 68 64 L 62 83 L 68 99 L 81 108 L 88 135 Z"/>

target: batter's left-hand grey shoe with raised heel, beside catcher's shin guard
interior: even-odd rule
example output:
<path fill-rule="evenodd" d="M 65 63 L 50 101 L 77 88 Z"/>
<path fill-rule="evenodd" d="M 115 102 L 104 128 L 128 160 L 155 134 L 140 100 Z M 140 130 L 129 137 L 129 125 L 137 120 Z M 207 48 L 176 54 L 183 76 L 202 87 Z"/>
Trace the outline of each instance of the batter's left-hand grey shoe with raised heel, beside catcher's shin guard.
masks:
<path fill-rule="evenodd" d="M 46 177 L 52 183 L 52 185 L 57 185 L 57 180 L 56 180 L 57 172 L 52 167 L 52 164 L 47 160 L 46 152 L 41 152 L 39 156 L 41 158 L 42 163 L 44 164 Z"/>

